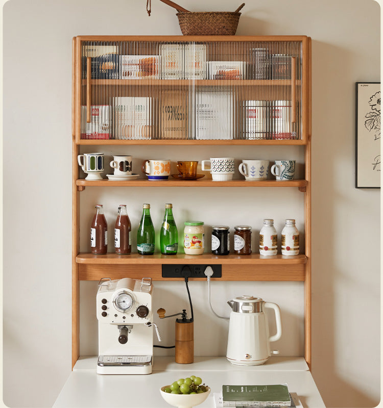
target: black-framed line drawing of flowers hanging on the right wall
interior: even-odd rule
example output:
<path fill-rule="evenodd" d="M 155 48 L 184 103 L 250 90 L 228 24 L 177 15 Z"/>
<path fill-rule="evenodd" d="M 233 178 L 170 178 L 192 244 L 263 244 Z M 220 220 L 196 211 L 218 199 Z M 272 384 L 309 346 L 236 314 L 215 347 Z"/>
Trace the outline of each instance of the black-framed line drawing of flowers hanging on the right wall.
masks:
<path fill-rule="evenodd" d="M 380 82 L 355 85 L 355 188 L 380 188 Z"/>

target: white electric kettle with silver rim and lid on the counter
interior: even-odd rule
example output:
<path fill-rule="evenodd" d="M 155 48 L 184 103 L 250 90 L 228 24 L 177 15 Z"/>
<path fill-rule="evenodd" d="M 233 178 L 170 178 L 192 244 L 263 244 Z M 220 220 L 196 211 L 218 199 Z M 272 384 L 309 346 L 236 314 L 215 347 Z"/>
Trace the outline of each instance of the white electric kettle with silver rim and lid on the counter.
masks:
<path fill-rule="evenodd" d="M 271 354 L 270 342 L 279 340 L 282 335 L 280 309 L 276 303 L 265 302 L 260 297 L 243 295 L 227 302 L 231 307 L 229 336 L 227 341 L 227 360 L 240 366 L 264 364 Z M 269 323 L 265 309 L 275 313 L 277 333 L 269 334 Z"/>

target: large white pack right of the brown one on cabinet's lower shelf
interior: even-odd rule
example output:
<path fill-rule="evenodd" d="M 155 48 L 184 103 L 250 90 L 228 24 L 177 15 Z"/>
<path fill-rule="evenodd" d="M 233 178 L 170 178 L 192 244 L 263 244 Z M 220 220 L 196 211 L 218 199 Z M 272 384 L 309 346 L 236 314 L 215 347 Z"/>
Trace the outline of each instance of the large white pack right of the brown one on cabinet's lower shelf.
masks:
<path fill-rule="evenodd" d="M 195 138 L 199 140 L 233 139 L 233 93 L 227 90 L 197 90 Z"/>

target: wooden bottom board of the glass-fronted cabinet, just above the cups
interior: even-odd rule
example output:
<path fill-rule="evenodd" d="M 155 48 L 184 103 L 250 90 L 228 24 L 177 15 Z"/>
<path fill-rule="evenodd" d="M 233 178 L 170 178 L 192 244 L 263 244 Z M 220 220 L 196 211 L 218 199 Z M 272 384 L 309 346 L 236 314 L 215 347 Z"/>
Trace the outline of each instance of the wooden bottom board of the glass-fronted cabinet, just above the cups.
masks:
<path fill-rule="evenodd" d="M 304 140 L 195 140 L 195 139 L 149 139 L 149 140 L 121 140 L 121 139 L 80 139 L 79 145 L 222 145 L 222 146 L 238 146 L 238 145 L 264 145 L 264 146 L 302 146 L 306 142 Z"/>

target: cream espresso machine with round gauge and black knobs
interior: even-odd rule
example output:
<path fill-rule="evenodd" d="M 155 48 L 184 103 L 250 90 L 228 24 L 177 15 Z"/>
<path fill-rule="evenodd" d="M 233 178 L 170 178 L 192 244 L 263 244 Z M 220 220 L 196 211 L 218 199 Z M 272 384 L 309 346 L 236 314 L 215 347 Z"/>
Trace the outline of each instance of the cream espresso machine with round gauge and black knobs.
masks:
<path fill-rule="evenodd" d="M 97 292 L 99 374 L 150 374 L 153 364 L 151 278 L 102 278 Z"/>

